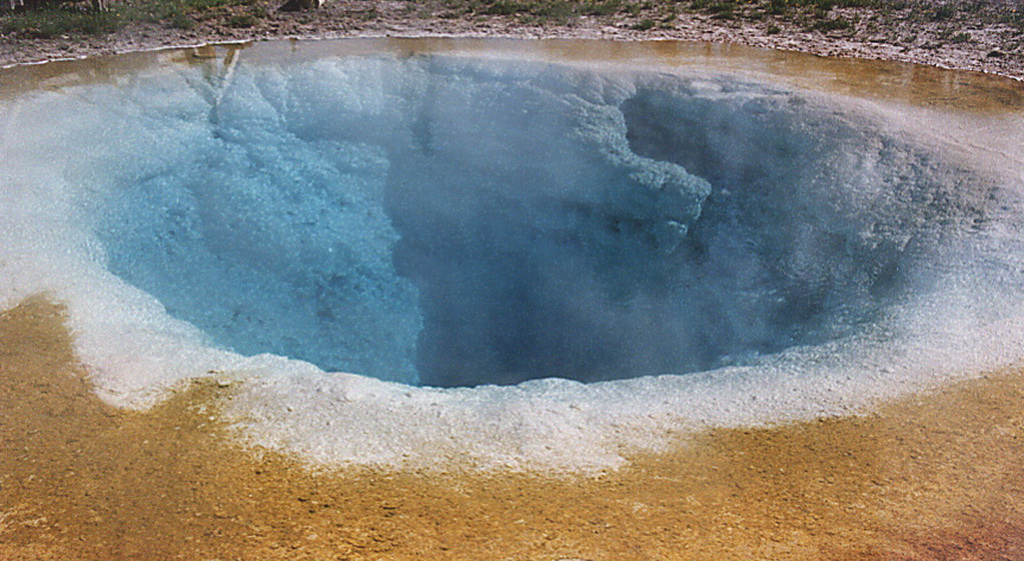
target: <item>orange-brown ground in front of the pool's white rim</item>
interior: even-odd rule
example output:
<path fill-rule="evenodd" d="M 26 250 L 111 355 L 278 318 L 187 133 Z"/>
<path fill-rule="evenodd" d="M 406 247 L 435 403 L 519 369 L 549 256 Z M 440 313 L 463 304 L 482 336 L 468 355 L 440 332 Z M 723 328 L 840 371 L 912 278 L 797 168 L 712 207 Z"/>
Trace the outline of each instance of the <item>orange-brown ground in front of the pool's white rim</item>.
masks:
<path fill-rule="evenodd" d="M 63 313 L 0 314 L 0 559 L 1024 559 L 1024 373 L 865 417 L 716 430 L 597 478 L 313 473 L 196 382 L 92 393 Z"/>

